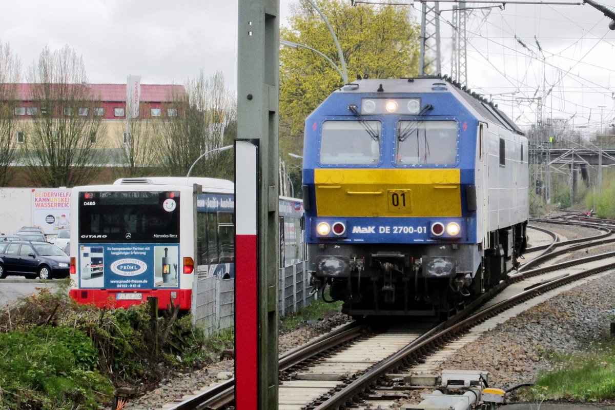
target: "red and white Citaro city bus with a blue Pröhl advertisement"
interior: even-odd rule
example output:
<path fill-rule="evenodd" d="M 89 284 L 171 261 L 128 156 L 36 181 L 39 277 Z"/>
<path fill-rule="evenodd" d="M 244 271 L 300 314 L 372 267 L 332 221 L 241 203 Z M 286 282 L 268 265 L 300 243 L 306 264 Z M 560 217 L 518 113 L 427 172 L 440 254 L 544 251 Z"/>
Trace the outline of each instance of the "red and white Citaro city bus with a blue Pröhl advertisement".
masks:
<path fill-rule="evenodd" d="M 80 303 L 129 307 L 156 296 L 189 310 L 194 277 L 234 270 L 234 185 L 210 178 L 120 179 L 71 193 L 71 290 Z M 304 258 L 303 202 L 279 198 L 280 267 Z"/>

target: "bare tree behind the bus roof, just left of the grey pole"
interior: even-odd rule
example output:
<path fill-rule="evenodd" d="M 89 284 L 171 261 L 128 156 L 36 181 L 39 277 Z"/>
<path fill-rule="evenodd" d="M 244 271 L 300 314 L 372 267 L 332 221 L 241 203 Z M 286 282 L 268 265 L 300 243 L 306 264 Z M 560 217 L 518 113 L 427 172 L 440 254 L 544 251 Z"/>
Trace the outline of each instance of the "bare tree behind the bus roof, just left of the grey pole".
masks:
<path fill-rule="evenodd" d="M 205 78 L 201 70 L 186 82 L 187 95 L 175 98 L 177 117 L 162 129 L 161 161 L 169 175 L 186 175 L 192 163 L 207 151 L 232 141 L 229 132 L 236 130 L 237 100 L 217 71 Z M 228 177 L 232 175 L 232 153 L 212 153 L 199 161 L 192 175 Z"/>

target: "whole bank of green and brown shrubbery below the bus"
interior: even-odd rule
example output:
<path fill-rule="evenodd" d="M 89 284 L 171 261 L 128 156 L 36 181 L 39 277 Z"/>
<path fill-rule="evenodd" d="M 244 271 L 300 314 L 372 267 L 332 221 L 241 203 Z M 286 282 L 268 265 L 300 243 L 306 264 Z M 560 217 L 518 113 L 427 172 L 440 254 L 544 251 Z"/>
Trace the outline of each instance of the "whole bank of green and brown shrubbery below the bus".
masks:
<path fill-rule="evenodd" d="M 114 387 L 143 390 L 175 370 L 202 367 L 232 348 L 192 328 L 190 316 L 147 304 L 101 310 L 41 289 L 0 311 L 0 409 L 98 408 Z"/>

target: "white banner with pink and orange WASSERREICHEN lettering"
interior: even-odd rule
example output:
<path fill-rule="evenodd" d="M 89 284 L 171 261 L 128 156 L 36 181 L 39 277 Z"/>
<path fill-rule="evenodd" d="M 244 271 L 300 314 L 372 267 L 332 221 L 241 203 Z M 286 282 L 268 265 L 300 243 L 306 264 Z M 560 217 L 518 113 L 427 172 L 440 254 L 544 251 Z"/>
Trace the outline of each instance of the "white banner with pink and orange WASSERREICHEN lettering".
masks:
<path fill-rule="evenodd" d="M 71 227 L 71 191 L 62 188 L 32 189 L 32 225 L 46 234 Z"/>

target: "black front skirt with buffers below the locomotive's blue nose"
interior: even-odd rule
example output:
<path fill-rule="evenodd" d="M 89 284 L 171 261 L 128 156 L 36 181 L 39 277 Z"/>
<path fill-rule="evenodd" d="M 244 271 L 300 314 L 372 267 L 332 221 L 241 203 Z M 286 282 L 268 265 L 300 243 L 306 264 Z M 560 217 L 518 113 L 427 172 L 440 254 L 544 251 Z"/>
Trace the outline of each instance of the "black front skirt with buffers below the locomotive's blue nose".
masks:
<path fill-rule="evenodd" d="M 311 244 L 308 253 L 315 286 L 352 316 L 454 313 L 483 289 L 479 244 Z"/>

